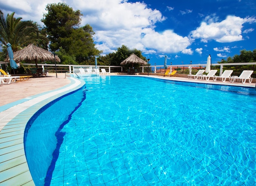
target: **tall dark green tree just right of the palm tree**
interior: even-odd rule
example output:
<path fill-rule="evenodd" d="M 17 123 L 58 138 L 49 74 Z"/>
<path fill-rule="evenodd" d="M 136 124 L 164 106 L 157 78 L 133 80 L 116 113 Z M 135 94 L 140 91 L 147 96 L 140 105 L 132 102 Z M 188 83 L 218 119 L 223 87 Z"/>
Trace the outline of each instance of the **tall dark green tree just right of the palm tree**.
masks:
<path fill-rule="evenodd" d="M 81 12 L 74 11 L 67 4 L 60 2 L 48 4 L 46 10 L 42 22 L 51 41 L 50 49 L 56 51 L 63 48 L 65 54 L 75 57 L 79 64 L 92 63 L 94 56 L 99 55 L 101 51 L 97 50 L 93 43 L 92 27 L 88 24 L 79 27 Z"/>

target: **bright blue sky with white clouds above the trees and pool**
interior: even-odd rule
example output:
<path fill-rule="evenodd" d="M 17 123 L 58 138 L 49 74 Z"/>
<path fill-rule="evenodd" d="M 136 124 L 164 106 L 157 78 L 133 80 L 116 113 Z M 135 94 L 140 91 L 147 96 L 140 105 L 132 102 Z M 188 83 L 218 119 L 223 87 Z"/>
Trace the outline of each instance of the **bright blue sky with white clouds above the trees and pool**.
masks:
<path fill-rule="evenodd" d="M 40 20 L 48 3 L 0 0 L 4 16 L 15 12 L 23 20 Z M 255 0 L 66 0 L 83 13 L 81 26 L 90 24 L 102 55 L 121 45 L 136 48 L 151 65 L 212 63 L 256 49 Z"/>

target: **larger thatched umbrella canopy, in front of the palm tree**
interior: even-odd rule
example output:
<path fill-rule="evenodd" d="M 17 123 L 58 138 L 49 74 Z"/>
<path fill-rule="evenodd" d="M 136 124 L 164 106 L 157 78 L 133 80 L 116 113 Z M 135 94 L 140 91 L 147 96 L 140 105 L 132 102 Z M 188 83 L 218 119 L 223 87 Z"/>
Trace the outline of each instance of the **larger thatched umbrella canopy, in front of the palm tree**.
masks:
<path fill-rule="evenodd" d="M 61 59 L 58 56 L 55 56 L 38 46 L 35 46 L 34 44 L 29 44 L 25 48 L 15 52 L 13 54 L 13 59 L 16 62 L 20 61 L 26 61 L 26 62 L 31 62 L 34 61 L 36 63 L 36 68 L 37 68 L 37 62 L 38 61 L 57 61 L 61 62 Z"/>

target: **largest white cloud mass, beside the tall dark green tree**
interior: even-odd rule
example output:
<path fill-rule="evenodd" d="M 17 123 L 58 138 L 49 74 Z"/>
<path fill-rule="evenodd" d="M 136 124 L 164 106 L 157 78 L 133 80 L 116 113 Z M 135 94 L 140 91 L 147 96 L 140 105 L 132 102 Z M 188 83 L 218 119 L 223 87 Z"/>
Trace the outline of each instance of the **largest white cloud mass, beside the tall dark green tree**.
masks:
<path fill-rule="evenodd" d="M 147 8 L 144 2 L 80 1 L 83 3 L 78 2 L 82 5 L 77 8 L 82 13 L 90 11 L 84 14 L 83 24 L 92 26 L 95 32 L 94 42 L 103 53 L 109 53 L 123 44 L 145 54 L 177 53 L 192 42 L 188 37 L 177 35 L 171 30 L 156 32 L 155 24 L 166 18 L 158 10 Z"/>

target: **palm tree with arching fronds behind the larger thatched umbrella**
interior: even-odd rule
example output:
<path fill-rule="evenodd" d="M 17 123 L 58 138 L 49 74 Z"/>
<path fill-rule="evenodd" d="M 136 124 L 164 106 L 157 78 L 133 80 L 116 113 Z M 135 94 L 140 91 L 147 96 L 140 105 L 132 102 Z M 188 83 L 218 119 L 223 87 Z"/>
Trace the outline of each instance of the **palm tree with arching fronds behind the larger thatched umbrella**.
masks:
<path fill-rule="evenodd" d="M 40 34 L 38 26 L 32 21 L 21 21 L 22 18 L 14 18 L 14 13 L 7 14 L 6 20 L 0 10 L 0 42 L 7 46 L 11 44 L 15 52 L 20 47 L 26 46 L 28 42 L 34 42 L 36 39 L 48 41 L 47 37 Z"/>

